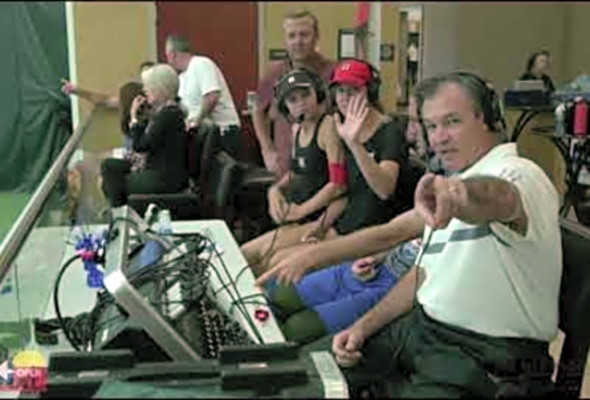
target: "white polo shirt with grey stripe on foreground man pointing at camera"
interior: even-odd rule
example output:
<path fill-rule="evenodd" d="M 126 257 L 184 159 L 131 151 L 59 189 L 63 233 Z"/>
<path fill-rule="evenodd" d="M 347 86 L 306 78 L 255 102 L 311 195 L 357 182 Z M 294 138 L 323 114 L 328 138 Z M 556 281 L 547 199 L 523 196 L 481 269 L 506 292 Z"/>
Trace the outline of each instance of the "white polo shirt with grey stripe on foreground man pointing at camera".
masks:
<path fill-rule="evenodd" d="M 418 302 L 433 319 L 490 336 L 550 341 L 557 334 L 561 234 L 557 192 L 543 170 L 501 144 L 461 174 L 495 176 L 518 188 L 523 237 L 500 222 L 453 219 L 433 232 L 420 261 Z M 430 229 L 427 228 L 423 243 Z"/>

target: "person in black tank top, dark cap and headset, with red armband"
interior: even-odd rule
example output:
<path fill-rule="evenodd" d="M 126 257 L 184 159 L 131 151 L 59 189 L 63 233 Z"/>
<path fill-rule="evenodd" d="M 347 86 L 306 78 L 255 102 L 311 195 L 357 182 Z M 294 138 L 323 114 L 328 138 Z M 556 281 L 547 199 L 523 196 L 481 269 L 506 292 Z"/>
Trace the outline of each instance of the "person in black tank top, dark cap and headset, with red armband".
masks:
<path fill-rule="evenodd" d="M 267 254 L 300 243 L 302 226 L 315 221 L 345 191 L 344 180 L 330 179 L 329 166 L 343 168 L 342 142 L 331 115 L 320 113 L 326 99 L 323 81 L 313 72 L 294 69 L 275 87 L 279 111 L 292 121 L 290 170 L 268 191 L 269 214 L 279 228 L 242 245 L 248 263 L 264 269 Z M 268 260 L 266 260 L 268 261 Z"/>

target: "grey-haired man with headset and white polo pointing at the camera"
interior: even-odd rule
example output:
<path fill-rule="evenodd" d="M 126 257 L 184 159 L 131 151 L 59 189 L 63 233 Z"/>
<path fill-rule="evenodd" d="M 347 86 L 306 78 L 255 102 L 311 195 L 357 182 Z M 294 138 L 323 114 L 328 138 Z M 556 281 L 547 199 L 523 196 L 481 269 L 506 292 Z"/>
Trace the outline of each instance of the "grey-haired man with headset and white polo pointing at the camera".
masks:
<path fill-rule="evenodd" d="M 283 259 L 297 280 L 342 259 L 422 235 L 416 265 L 331 347 L 354 391 L 392 397 L 540 396 L 551 389 L 562 271 L 556 190 L 503 143 L 498 99 L 481 78 L 450 73 L 415 91 L 420 121 L 443 167 L 426 174 L 415 207 L 389 223 Z"/>

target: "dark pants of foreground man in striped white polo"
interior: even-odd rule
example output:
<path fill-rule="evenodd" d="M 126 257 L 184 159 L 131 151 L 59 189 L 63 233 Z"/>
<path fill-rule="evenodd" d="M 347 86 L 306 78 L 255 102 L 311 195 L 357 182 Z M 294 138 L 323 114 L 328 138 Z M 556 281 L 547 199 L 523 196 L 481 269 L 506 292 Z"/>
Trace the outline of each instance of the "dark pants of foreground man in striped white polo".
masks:
<path fill-rule="evenodd" d="M 326 337 L 303 351 L 331 349 Z M 369 338 L 342 368 L 351 397 L 372 387 L 390 397 L 542 396 L 552 389 L 549 344 L 481 335 L 429 318 L 420 307 Z"/>

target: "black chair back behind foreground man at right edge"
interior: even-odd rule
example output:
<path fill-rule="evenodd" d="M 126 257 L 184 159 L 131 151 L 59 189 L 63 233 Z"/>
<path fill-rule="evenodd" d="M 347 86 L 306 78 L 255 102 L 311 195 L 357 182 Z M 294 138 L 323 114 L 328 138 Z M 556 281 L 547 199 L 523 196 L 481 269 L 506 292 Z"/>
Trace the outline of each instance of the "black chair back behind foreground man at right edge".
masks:
<path fill-rule="evenodd" d="M 559 397 L 580 396 L 590 347 L 590 229 L 561 219 L 563 275 L 559 328 L 565 334 L 555 389 Z"/>

